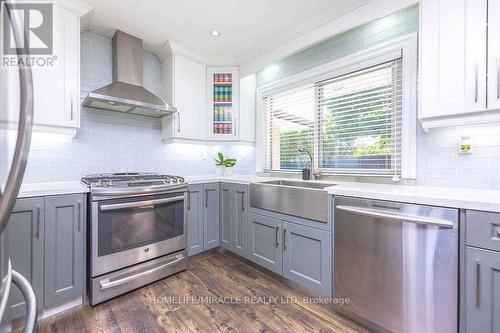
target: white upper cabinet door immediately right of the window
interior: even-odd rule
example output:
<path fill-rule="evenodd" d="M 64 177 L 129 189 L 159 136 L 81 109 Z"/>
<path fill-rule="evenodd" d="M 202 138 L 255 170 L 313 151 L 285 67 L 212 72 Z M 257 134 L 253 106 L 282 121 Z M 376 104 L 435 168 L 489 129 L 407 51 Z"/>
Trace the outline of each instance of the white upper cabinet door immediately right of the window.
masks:
<path fill-rule="evenodd" d="M 420 4 L 422 126 L 479 119 L 476 115 L 490 107 L 486 100 L 487 0 L 422 0 Z"/>

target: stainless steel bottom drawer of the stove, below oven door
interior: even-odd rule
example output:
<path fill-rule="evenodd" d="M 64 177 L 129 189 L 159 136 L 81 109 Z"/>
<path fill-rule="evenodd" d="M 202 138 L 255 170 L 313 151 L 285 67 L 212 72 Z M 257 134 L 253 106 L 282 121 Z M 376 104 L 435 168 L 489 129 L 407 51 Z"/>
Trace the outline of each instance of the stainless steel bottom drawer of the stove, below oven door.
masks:
<path fill-rule="evenodd" d="M 102 303 L 186 268 L 187 251 L 181 251 L 92 278 L 90 304 Z"/>

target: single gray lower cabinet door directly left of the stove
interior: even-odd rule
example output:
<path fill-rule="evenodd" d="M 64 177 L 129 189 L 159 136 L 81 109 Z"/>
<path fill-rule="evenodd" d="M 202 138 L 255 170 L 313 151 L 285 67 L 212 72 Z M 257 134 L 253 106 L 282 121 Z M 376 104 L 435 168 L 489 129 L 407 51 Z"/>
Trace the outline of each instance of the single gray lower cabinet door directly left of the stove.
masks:
<path fill-rule="evenodd" d="M 45 199 L 45 307 L 83 294 L 82 195 Z"/>

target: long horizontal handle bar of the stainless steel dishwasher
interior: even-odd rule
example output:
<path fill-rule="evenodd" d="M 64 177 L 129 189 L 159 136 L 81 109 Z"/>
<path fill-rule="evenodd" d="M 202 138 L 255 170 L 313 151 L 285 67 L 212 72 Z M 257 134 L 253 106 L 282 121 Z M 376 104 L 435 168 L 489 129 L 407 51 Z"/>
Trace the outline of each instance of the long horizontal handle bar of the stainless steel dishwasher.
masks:
<path fill-rule="evenodd" d="M 433 218 L 433 217 L 427 217 L 427 216 L 403 214 L 403 213 L 397 213 L 397 212 L 386 211 L 386 210 L 381 210 L 381 209 L 354 207 L 354 206 L 343 206 L 343 205 L 336 206 L 336 209 L 344 211 L 344 212 L 348 212 L 348 213 L 364 215 L 364 216 L 369 216 L 369 217 L 382 218 L 382 219 L 387 219 L 387 220 L 391 220 L 391 221 L 395 221 L 395 222 L 415 223 L 415 224 L 422 224 L 422 225 L 439 227 L 439 228 L 450 228 L 450 229 L 453 228 L 453 222 L 451 222 L 451 221 L 437 219 L 437 218 Z"/>

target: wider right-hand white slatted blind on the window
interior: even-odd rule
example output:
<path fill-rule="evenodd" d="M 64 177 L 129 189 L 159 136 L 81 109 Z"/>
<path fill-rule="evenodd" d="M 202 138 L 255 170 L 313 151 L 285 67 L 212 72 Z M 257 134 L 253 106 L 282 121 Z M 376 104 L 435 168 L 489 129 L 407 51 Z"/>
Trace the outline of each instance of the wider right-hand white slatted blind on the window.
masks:
<path fill-rule="evenodd" d="M 318 84 L 319 167 L 401 173 L 401 59 Z"/>

